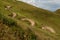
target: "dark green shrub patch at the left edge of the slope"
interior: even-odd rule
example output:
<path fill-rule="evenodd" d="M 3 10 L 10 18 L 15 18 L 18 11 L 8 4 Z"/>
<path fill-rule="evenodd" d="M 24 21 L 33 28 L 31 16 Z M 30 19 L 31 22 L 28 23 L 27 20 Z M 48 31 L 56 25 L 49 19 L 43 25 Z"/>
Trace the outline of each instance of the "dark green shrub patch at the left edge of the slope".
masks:
<path fill-rule="evenodd" d="M 16 21 L 4 16 L 3 14 L 0 13 L 0 20 L 3 21 L 4 24 L 9 25 L 9 26 L 16 26 Z"/>

